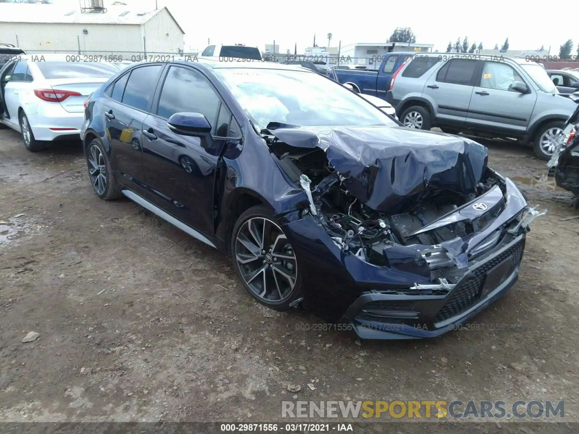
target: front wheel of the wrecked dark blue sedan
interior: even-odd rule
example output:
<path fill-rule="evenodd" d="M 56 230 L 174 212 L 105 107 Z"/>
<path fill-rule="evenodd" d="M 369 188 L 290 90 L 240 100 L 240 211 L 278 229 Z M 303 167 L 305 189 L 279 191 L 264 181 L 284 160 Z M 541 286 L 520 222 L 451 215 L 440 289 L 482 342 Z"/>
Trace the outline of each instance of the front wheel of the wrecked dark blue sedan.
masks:
<path fill-rule="evenodd" d="M 237 219 L 231 253 L 241 284 L 259 303 L 284 311 L 302 296 L 294 249 L 265 205 L 251 207 Z"/>

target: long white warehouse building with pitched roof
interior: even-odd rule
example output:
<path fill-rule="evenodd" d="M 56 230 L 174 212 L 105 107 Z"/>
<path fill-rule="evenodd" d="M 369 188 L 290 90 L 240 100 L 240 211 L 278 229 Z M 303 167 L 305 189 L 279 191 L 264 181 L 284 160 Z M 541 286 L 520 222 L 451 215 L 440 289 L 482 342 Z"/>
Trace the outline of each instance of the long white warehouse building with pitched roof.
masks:
<path fill-rule="evenodd" d="M 141 12 L 126 5 L 63 9 L 0 3 L 0 42 L 30 54 L 178 54 L 183 53 L 185 32 L 166 7 Z"/>

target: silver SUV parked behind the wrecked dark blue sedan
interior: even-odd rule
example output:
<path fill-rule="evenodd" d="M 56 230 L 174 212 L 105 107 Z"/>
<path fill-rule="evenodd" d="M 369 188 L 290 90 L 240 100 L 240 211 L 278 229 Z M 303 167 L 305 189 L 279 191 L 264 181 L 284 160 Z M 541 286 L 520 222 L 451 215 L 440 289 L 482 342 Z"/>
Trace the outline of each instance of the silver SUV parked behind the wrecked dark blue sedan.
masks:
<path fill-rule="evenodd" d="M 516 138 L 543 160 L 576 107 L 536 62 L 452 53 L 413 57 L 394 74 L 386 100 L 407 127 Z"/>

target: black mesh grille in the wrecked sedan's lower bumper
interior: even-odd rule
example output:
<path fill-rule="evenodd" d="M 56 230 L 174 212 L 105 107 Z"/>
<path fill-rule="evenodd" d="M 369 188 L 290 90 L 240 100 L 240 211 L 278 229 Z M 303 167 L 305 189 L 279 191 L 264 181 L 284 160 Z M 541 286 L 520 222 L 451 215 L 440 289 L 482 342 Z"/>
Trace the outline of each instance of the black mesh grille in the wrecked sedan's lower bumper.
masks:
<path fill-rule="evenodd" d="M 478 267 L 474 272 L 474 275 L 467 279 L 467 281 L 461 283 L 459 288 L 455 289 L 455 292 L 450 299 L 442 309 L 438 311 L 438 314 L 434 318 L 434 322 L 445 321 L 445 319 L 452 318 L 476 304 L 480 300 L 481 286 L 485 281 L 486 273 L 504 260 L 511 258 L 511 268 L 508 274 L 512 274 L 513 271 L 515 271 L 516 266 L 521 263 L 524 249 L 525 241 L 521 240 L 500 255 L 489 260 L 489 262 Z"/>

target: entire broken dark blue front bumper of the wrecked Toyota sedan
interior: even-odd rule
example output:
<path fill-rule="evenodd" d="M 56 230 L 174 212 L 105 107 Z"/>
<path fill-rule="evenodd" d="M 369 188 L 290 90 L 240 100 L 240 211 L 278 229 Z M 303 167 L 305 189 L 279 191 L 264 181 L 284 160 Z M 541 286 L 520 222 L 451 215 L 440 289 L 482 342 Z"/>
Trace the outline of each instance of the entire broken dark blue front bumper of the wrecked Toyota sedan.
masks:
<path fill-rule="evenodd" d="M 472 234 L 466 253 L 447 253 L 453 264 L 437 263 L 439 257 L 428 252 L 427 273 L 413 266 L 417 262 L 402 268 L 365 262 L 342 252 L 313 216 L 289 218 L 283 230 L 307 285 L 303 308 L 328 322 L 351 323 L 365 339 L 439 336 L 466 321 L 516 282 L 529 223 L 544 214 L 527 207 L 512 181 L 505 179 L 505 186 L 501 214 Z M 488 196 L 493 194 L 490 190 Z M 438 222 L 446 225 L 455 218 L 451 214 Z M 445 282 L 434 285 L 440 288 L 433 288 L 434 275 Z"/>

